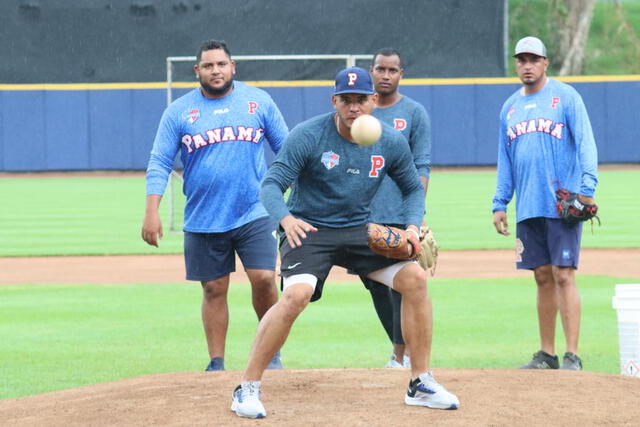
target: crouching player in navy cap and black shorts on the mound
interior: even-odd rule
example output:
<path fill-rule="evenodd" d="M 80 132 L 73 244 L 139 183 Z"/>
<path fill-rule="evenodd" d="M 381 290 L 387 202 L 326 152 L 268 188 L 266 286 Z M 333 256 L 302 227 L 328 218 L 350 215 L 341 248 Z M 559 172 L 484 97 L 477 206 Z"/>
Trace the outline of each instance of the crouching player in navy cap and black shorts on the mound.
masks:
<path fill-rule="evenodd" d="M 261 200 L 280 224 L 282 297 L 260 321 L 242 383 L 233 393 L 231 409 L 241 417 L 266 416 L 260 401 L 262 374 L 298 315 L 322 296 L 334 265 L 402 294 L 402 330 L 411 354 L 405 403 L 437 409 L 460 405 L 429 371 L 431 302 L 425 271 L 415 261 L 385 258 L 367 246 L 369 204 L 383 177 L 388 175 L 402 191 L 408 230 L 418 233 L 424 210 L 422 183 L 402 134 L 383 124 L 380 140 L 371 146 L 351 137 L 354 120 L 370 114 L 376 100 L 366 70 L 340 71 L 331 97 L 335 112 L 296 126 L 262 183 Z"/>

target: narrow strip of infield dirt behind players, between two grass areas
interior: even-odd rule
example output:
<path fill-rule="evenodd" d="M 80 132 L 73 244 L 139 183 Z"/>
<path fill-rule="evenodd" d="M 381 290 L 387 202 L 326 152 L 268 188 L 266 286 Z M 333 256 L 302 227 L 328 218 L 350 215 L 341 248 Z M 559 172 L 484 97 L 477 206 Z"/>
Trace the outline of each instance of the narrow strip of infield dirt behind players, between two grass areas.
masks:
<path fill-rule="evenodd" d="M 443 251 L 435 278 L 528 277 L 516 270 L 512 250 Z M 248 283 L 237 260 L 233 282 Z M 582 249 L 578 274 L 640 278 L 640 249 Z M 340 267 L 328 281 L 356 280 Z M 0 285 L 27 283 L 180 283 L 182 255 L 73 256 L 0 258 Z"/>

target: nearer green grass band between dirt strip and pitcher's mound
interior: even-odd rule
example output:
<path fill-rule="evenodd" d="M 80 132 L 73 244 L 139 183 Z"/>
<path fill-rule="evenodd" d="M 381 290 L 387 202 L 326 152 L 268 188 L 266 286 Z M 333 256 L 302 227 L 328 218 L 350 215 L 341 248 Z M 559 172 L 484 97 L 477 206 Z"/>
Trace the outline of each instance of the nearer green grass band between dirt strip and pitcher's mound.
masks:
<path fill-rule="evenodd" d="M 636 279 L 637 280 L 637 279 Z M 580 278 L 585 369 L 618 373 L 616 283 Z M 430 281 L 432 365 L 513 368 L 537 350 L 530 279 Z M 227 369 L 243 368 L 256 327 L 249 286 L 230 289 Z M 0 399 L 161 372 L 201 371 L 206 347 L 197 286 L 0 287 Z M 558 337 L 558 349 L 564 344 Z M 289 368 L 381 367 L 390 345 L 368 292 L 331 283 L 293 327 Z"/>

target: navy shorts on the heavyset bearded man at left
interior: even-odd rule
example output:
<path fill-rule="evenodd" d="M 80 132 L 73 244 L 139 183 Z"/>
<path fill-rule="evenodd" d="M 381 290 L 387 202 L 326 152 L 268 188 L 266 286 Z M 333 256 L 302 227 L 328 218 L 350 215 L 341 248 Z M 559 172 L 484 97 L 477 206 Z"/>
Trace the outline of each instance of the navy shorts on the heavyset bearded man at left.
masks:
<path fill-rule="evenodd" d="M 236 271 L 236 252 L 245 269 L 275 270 L 276 224 L 269 217 L 223 233 L 184 232 L 187 280 L 207 282 Z"/>

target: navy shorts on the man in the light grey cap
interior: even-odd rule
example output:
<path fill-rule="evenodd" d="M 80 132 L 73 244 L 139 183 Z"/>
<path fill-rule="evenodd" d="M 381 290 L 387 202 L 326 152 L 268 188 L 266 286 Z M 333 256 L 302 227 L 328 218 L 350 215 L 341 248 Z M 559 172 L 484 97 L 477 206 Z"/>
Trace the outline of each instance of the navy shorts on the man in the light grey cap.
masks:
<path fill-rule="evenodd" d="M 551 264 L 578 268 L 582 223 L 562 219 L 530 218 L 516 228 L 516 266 L 533 270 Z"/>

